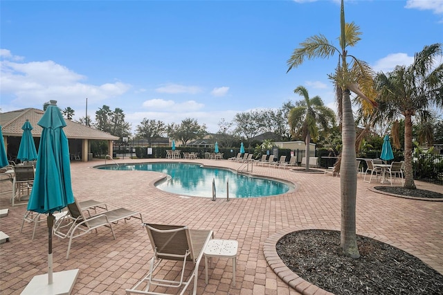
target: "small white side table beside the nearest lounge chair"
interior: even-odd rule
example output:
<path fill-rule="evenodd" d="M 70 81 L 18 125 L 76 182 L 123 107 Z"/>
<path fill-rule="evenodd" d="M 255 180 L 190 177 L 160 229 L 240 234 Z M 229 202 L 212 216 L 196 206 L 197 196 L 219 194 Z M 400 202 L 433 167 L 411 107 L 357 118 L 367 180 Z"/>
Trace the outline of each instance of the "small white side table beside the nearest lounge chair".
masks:
<path fill-rule="evenodd" d="M 224 257 L 233 258 L 233 286 L 235 286 L 235 266 L 237 258 L 238 242 L 236 240 L 217 240 L 213 239 L 208 242 L 208 246 L 204 251 L 206 284 L 208 284 L 208 258 Z M 212 264 L 212 263 L 211 263 Z"/>

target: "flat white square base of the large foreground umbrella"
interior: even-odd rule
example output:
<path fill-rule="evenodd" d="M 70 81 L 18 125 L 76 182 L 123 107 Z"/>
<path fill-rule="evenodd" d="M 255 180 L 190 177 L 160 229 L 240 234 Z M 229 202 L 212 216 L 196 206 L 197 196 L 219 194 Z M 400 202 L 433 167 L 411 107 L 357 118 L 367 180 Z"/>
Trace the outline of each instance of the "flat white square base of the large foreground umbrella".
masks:
<path fill-rule="evenodd" d="M 35 276 L 21 292 L 25 294 L 71 294 L 79 269 L 53 273 L 53 284 L 48 285 L 48 274 Z"/>

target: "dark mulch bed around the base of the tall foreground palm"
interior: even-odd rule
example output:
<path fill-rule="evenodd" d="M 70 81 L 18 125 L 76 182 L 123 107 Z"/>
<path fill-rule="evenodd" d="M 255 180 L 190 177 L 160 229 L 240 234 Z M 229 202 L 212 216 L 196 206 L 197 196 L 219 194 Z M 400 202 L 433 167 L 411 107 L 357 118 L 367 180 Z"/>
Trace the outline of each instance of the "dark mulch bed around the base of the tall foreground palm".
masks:
<path fill-rule="evenodd" d="M 443 276 L 389 244 L 357 236 L 361 257 L 341 254 L 340 232 L 295 231 L 277 243 L 284 264 L 334 294 L 443 294 Z"/>

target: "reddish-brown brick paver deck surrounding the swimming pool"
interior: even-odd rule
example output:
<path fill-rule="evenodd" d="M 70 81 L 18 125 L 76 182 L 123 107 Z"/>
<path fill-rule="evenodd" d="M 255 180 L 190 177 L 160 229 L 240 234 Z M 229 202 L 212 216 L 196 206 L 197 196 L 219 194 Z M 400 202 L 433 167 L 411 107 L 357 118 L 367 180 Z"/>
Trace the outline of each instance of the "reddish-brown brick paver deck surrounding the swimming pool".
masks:
<path fill-rule="evenodd" d="M 149 160 L 125 159 L 118 163 L 146 161 Z M 228 160 L 172 161 L 235 170 L 241 166 Z M 232 260 L 220 258 L 213 261 L 213 268 L 208 271 L 208 285 L 201 262 L 197 294 L 298 294 L 266 262 L 266 240 L 284 231 L 340 230 L 340 177 L 331 173 L 313 175 L 253 166 L 254 174 L 291 181 L 296 190 L 275 197 L 230 199 L 230 202 L 217 196 L 213 202 L 210 198 L 184 198 L 156 189 L 154 182 L 162 177 L 158 172 L 91 168 L 104 163 L 104 160 L 71 163 L 73 191 L 79 201 L 96 199 L 106 202 L 110 210 L 125 207 L 140 211 L 145 222 L 212 229 L 215 238 L 238 241 L 235 287 L 231 285 Z M 420 181 L 416 185 L 443 192 L 442 186 Z M 443 202 L 381 195 L 368 189 L 373 186 L 379 184 L 374 181 L 368 184 L 358 177 L 357 234 L 395 244 L 443 274 Z M 0 181 L 0 208 L 9 208 L 8 216 L 0 217 L 0 231 L 10 236 L 9 242 L 0 244 L 0 294 L 20 294 L 33 276 L 47 272 L 46 222 L 37 226 L 34 240 L 30 224 L 25 224 L 24 232 L 19 233 L 26 206 L 10 206 L 11 189 L 10 181 Z M 147 271 L 153 251 L 140 222 L 120 222 L 114 231 L 116 240 L 105 227 L 98 229 L 98 233 L 74 239 L 69 260 L 66 260 L 68 240 L 53 239 L 54 271 L 80 269 L 73 294 L 125 294 L 125 289 L 133 287 Z M 168 262 L 162 271 L 167 276 L 176 276 L 178 265 Z M 188 289 L 192 291 L 192 284 Z M 175 294 L 174 290 L 168 292 Z"/>

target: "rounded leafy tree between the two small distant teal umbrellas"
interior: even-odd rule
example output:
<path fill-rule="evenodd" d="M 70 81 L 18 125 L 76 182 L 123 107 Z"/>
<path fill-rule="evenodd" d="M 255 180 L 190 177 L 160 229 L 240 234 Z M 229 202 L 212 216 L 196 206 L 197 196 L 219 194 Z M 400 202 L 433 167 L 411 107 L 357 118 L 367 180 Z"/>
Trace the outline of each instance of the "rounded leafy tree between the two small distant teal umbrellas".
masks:
<path fill-rule="evenodd" d="M 204 138 L 208 134 L 206 125 L 199 125 L 197 120 L 192 118 L 182 120 L 179 125 L 172 123 L 168 125 L 167 130 L 168 136 L 181 141 L 183 145 L 194 139 Z"/>

